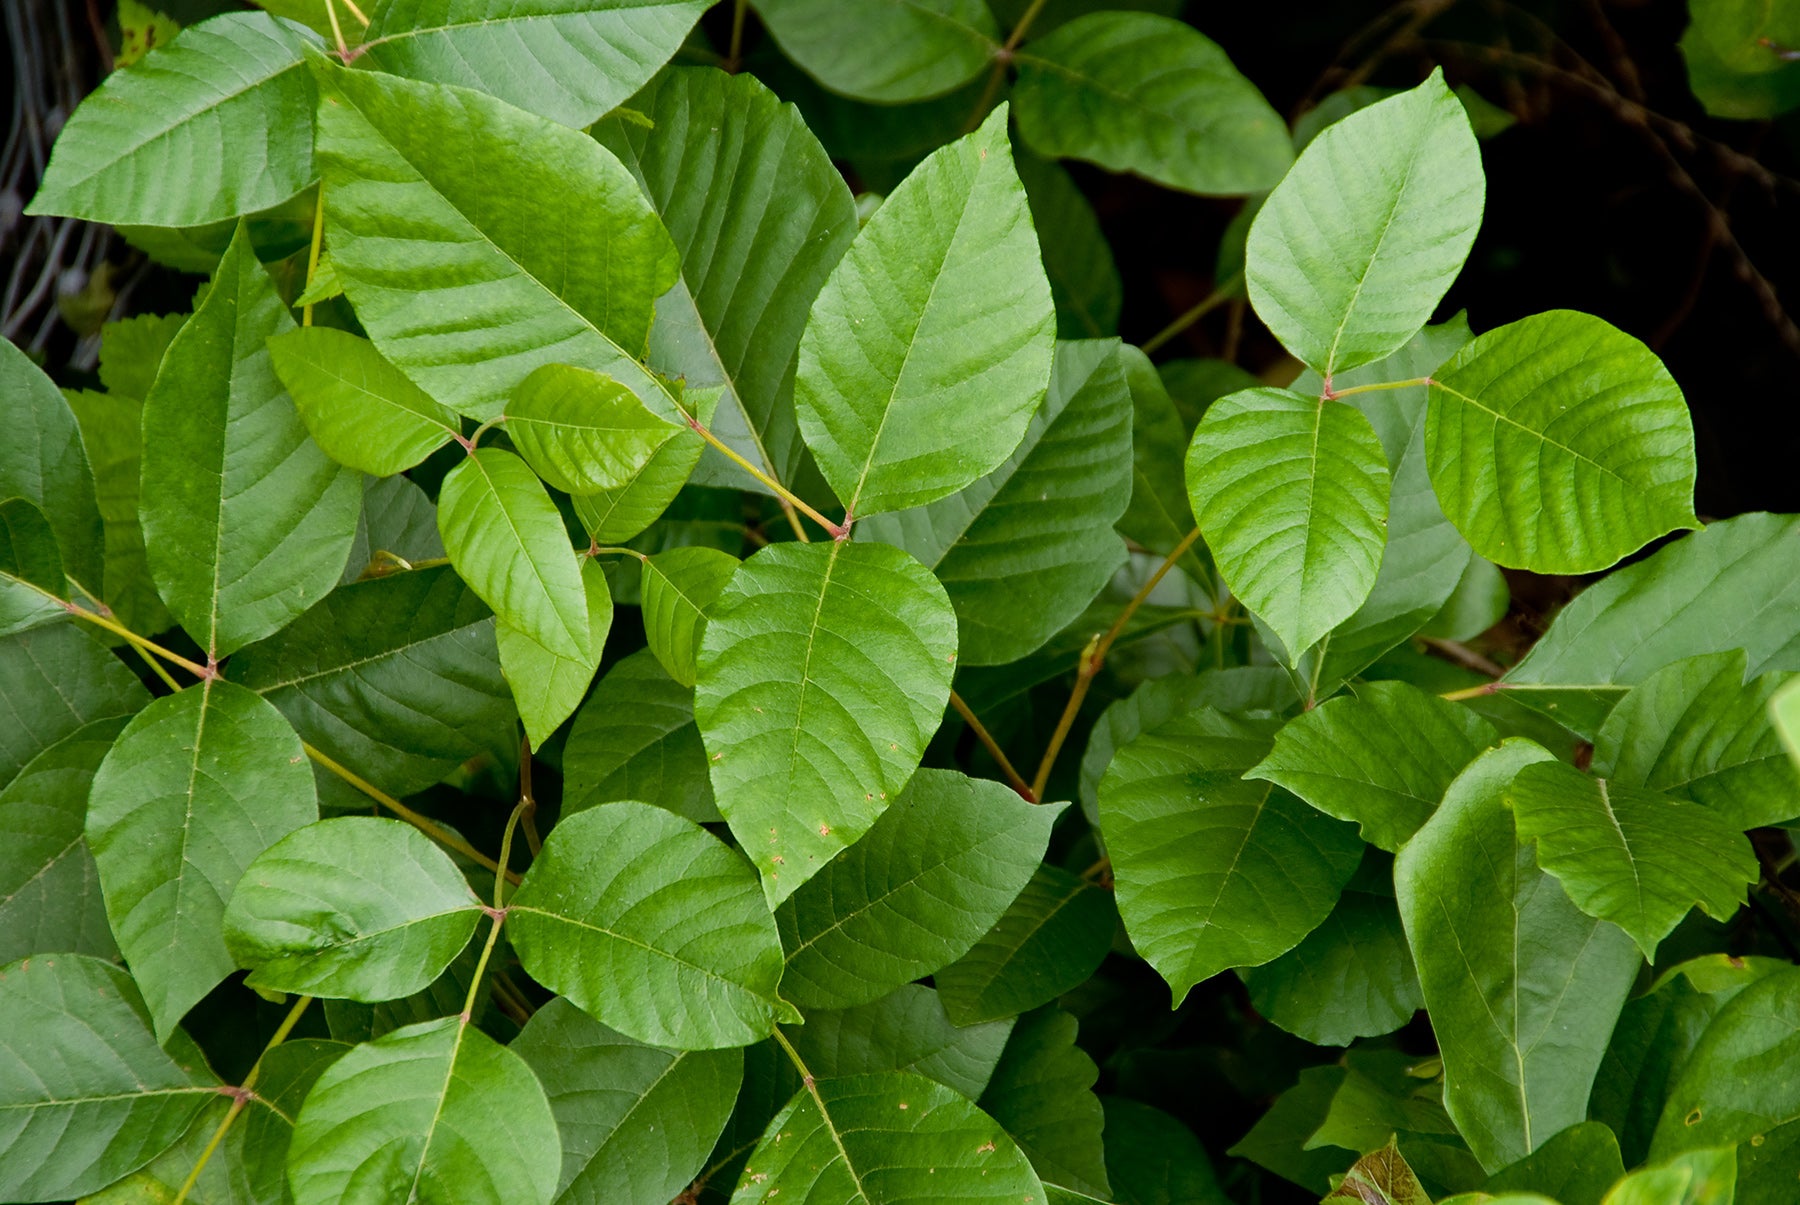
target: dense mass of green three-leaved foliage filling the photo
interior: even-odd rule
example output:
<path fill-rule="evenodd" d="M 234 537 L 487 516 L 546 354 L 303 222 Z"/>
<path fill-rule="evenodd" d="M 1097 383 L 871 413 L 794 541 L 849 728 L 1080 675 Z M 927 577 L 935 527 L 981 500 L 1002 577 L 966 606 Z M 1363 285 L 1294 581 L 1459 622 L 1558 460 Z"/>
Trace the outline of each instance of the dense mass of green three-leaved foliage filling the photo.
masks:
<path fill-rule="evenodd" d="M 1480 95 L 263 7 L 142 9 L 32 200 L 205 281 L 0 348 L 0 1198 L 1795 1200 L 1800 519 L 1600 317 L 1440 313 Z M 1188 321 L 1285 369 L 1114 337 L 1057 160 L 1246 198 Z"/>

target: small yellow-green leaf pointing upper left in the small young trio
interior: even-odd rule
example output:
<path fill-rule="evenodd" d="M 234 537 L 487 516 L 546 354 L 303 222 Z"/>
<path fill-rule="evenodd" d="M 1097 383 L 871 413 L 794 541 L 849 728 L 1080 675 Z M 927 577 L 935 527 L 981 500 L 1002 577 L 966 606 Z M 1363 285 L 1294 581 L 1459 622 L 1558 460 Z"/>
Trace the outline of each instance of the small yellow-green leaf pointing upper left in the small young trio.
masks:
<path fill-rule="evenodd" d="M 457 416 L 367 339 L 306 326 L 270 339 L 268 355 L 308 434 L 338 465 L 391 477 L 461 434 Z"/>

